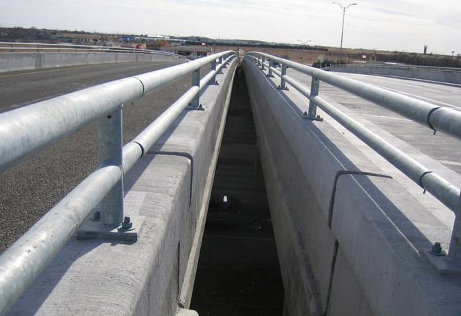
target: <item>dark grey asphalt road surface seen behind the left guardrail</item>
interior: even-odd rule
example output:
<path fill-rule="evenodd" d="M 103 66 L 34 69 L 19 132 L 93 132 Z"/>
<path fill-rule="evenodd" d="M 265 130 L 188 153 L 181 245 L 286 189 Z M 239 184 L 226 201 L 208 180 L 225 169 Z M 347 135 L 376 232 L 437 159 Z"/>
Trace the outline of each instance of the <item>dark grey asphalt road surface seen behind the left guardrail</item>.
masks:
<path fill-rule="evenodd" d="M 0 112 L 95 84 L 142 74 L 171 63 L 119 63 L 0 74 Z M 191 85 L 191 76 L 123 108 L 123 139 L 129 142 Z M 98 167 L 96 124 L 0 174 L 0 251 Z"/>

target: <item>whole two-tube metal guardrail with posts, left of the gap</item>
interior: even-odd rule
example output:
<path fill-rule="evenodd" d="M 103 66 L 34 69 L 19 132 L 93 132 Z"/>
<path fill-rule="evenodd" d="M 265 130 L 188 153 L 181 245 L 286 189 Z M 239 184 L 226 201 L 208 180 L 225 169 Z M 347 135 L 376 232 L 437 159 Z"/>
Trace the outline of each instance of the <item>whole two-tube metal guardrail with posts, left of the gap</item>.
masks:
<path fill-rule="evenodd" d="M 202 109 L 199 95 L 215 84 L 237 57 L 222 52 L 147 74 L 115 80 L 0 114 L 0 172 L 98 122 L 100 167 L 47 212 L 0 256 L 0 314 L 5 313 L 99 205 L 101 222 L 118 227 L 123 219 L 123 175 L 189 106 Z M 200 68 L 211 71 L 200 80 Z M 192 87 L 131 142 L 122 146 L 122 106 L 193 74 Z"/>

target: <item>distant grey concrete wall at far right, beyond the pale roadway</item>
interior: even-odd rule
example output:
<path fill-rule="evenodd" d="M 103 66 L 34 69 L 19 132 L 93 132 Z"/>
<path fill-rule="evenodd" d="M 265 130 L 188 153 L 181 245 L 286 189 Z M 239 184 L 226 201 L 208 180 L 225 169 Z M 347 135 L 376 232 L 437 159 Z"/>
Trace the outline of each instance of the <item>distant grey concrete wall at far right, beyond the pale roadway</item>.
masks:
<path fill-rule="evenodd" d="M 332 71 L 347 72 L 351 74 L 365 74 L 376 76 L 389 76 L 401 78 L 413 78 L 419 80 L 446 82 L 453 84 L 461 84 L 461 71 L 453 71 L 453 69 L 433 69 L 424 67 L 406 67 L 406 66 L 376 66 L 367 65 L 347 65 L 347 67 L 332 67 Z"/>

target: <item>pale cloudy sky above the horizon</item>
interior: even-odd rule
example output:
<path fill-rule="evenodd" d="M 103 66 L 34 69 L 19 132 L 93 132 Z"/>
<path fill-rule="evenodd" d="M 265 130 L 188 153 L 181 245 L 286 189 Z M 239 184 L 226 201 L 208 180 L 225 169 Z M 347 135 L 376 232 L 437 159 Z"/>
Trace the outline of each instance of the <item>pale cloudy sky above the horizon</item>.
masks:
<path fill-rule="evenodd" d="M 458 0 L 356 3 L 345 11 L 343 47 L 461 54 Z M 342 22 L 343 10 L 328 0 L 0 0 L 0 27 L 339 47 Z"/>

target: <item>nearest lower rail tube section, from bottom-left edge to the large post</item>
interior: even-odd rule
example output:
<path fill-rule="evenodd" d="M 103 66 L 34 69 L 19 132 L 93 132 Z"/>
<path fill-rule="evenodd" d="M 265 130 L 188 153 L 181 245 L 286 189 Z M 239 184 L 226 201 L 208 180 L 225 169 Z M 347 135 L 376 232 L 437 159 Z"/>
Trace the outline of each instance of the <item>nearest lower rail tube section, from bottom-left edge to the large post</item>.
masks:
<path fill-rule="evenodd" d="M 116 166 L 96 170 L 0 256 L 0 315 L 45 269 L 121 176 Z"/>

